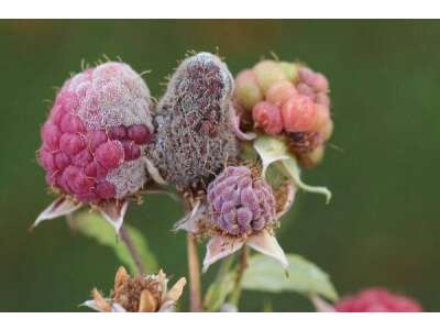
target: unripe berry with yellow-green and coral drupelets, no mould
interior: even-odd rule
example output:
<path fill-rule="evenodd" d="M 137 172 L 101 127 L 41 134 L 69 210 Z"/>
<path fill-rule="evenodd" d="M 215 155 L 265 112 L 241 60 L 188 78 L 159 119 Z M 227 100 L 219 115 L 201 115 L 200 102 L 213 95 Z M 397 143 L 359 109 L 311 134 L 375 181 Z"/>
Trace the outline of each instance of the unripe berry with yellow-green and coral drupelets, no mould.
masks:
<path fill-rule="evenodd" d="M 237 76 L 234 98 L 249 122 L 285 139 L 302 164 L 311 166 L 322 158 L 333 130 L 328 94 L 322 74 L 300 64 L 262 61 Z"/>

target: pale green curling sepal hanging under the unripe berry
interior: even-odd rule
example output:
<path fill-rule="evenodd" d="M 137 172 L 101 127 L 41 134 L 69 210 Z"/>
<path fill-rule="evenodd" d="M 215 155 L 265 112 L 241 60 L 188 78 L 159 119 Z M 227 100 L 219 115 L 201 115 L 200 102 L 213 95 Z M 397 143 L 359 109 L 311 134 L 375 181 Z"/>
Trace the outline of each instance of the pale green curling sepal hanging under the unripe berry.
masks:
<path fill-rule="evenodd" d="M 263 163 L 263 176 L 266 176 L 271 164 L 276 163 L 283 172 L 300 189 L 326 196 L 327 202 L 331 199 L 331 191 L 327 187 L 314 187 L 301 180 L 301 169 L 294 155 L 289 153 L 284 141 L 267 135 L 262 135 L 254 142 L 254 148 Z"/>

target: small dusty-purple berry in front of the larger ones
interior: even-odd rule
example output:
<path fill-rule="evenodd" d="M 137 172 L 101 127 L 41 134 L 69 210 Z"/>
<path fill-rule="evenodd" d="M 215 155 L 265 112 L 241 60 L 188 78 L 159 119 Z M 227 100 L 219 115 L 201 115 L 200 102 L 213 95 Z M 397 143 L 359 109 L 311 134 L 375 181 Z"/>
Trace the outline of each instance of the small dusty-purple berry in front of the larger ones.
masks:
<path fill-rule="evenodd" d="M 227 167 L 208 187 L 209 216 L 230 235 L 246 235 L 275 221 L 271 186 L 244 166 Z"/>

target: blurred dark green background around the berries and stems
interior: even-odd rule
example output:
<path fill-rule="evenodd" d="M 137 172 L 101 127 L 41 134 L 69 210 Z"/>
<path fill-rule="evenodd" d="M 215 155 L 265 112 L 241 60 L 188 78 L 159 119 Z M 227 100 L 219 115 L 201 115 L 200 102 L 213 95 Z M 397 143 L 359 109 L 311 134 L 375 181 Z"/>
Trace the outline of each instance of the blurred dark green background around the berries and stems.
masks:
<path fill-rule="evenodd" d="M 217 46 L 233 74 L 273 51 L 331 82 L 332 143 L 343 151 L 328 147 L 304 176 L 334 197 L 327 206 L 299 194 L 278 234 L 284 249 L 317 263 L 342 295 L 381 285 L 440 310 L 439 40 L 439 21 L 1 21 L 0 310 L 85 310 L 77 305 L 94 286 L 109 289 L 119 264 L 63 220 L 28 232 L 52 200 L 35 162 L 52 87 L 105 53 L 152 69 L 145 79 L 160 97 L 187 50 Z M 148 197 L 127 218 L 175 277 L 187 271 L 185 235 L 170 233 L 180 216 L 170 199 Z M 266 301 L 312 310 L 295 294 L 256 293 L 243 309 Z"/>

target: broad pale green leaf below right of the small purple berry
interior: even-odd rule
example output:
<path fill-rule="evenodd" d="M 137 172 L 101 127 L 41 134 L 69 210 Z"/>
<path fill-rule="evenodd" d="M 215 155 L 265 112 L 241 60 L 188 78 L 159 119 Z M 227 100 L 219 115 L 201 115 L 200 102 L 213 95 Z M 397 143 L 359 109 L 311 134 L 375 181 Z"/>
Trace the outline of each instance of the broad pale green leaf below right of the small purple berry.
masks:
<path fill-rule="evenodd" d="M 244 272 L 242 288 L 270 293 L 296 292 L 306 296 L 317 294 L 333 301 L 338 299 L 329 276 L 318 266 L 296 254 L 287 254 L 287 260 L 288 276 L 274 258 L 253 255 Z"/>

